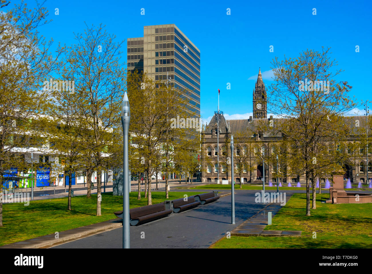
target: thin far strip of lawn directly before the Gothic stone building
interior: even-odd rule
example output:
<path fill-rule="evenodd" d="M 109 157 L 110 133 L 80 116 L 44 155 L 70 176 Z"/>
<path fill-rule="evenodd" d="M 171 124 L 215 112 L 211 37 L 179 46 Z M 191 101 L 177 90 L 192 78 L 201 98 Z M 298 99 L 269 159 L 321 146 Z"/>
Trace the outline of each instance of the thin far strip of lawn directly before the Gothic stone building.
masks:
<path fill-rule="evenodd" d="M 286 184 L 286 183 L 285 183 Z M 302 184 L 304 185 L 304 184 Z M 192 185 L 188 185 L 188 186 L 180 186 L 179 188 L 177 189 L 229 189 L 231 190 L 231 185 L 221 185 L 221 184 L 209 184 L 209 185 L 203 185 L 203 186 L 192 186 Z M 235 189 L 236 190 L 240 190 L 240 189 L 245 189 L 245 190 L 261 190 L 262 189 L 262 185 L 242 185 L 241 188 L 240 188 L 240 185 L 239 184 L 235 184 Z M 276 186 L 267 186 L 265 185 L 265 190 L 276 190 Z M 292 187 L 288 187 L 288 186 L 279 186 L 279 190 L 306 190 L 306 187 L 301 187 L 301 188 L 297 188 L 297 187 L 294 187 L 293 184 L 292 184 Z M 371 188 L 353 188 L 353 189 L 346 189 L 346 190 L 367 190 L 367 191 L 372 191 Z M 312 188 L 310 187 L 310 192 L 312 191 Z M 319 191 L 319 188 L 317 188 L 317 193 Z M 322 188 L 322 192 L 326 192 L 326 193 L 329 193 L 329 190 L 328 188 Z"/>

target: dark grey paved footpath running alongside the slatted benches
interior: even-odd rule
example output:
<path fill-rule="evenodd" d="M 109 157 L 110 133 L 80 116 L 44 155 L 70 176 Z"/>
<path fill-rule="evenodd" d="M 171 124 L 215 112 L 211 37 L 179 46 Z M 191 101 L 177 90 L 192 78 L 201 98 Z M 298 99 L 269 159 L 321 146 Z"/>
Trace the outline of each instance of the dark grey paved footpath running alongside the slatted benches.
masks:
<path fill-rule="evenodd" d="M 235 224 L 231 224 L 231 195 L 228 195 L 192 210 L 131 226 L 131 248 L 208 248 L 267 206 L 254 199 L 252 191 L 236 191 Z M 122 234 L 120 227 L 52 248 L 122 248 Z"/>

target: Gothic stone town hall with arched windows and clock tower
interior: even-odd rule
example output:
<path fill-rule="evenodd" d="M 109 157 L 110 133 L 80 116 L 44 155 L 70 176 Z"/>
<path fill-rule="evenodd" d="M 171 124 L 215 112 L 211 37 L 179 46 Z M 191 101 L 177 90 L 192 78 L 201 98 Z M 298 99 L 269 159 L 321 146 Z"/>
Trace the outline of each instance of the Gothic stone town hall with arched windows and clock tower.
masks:
<path fill-rule="evenodd" d="M 217 116 L 219 125 L 217 125 Z M 355 119 L 365 121 L 365 116 L 346 116 L 345 119 L 352 123 Z M 288 183 L 305 183 L 305 176 L 298 176 L 288 172 L 285 163 L 278 163 L 272 159 L 276 157 L 280 149 L 282 136 L 273 135 L 272 132 L 258 132 L 259 123 L 270 122 L 273 117 L 267 117 L 267 93 L 266 86 L 262 80 L 261 70 L 257 77 L 257 82 L 253 89 L 253 117 L 240 120 L 226 120 L 222 111 L 215 112 L 211 121 L 202 127 L 201 139 L 201 176 L 202 182 L 222 183 L 228 180 L 231 183 L 231 166 L 229 166 L 231 152 L 230 140 L 234 136 L 234 180 L 235 183 L 262 183 L 263 176 L 265 182 L 279 183 L 287 186 Z M 217 132 L 217 130 L 219 132 Z M 217 135 L 219 144 L 217 146 Z M 237 138 L 243 142 L 237 144 Z M 355 142 L 360 136 L 355 132 L 350 132 L 347 142 Z M 371 144 L 372 148 L 372 144 Z M 368 149 L 368 159 L 372 157 L 372 149 Z M 262 152 L 264 152 L 264 164 Z M 350 178 L 352 182 L 366 182 L 372 177 L 372 161 L 366 162 L 366 149 L 360 148 L 359 153 L 350 155 L 349 161 L 344 163 L 346 168 L 345 178 Z M 348 151 L 349 154 L 349 151 Z M 269 160 L 271 159 L 271 161 Z M 217 163 L 218 162 L 218 163 Z M 277 173 L 278 172 L 278 173 Z M 280 174 L 280 175 L 279 175 Z M 327 176 L 320 178 L 324 183 Z M 284 186 L 284 185 L 283 185 Z"/>

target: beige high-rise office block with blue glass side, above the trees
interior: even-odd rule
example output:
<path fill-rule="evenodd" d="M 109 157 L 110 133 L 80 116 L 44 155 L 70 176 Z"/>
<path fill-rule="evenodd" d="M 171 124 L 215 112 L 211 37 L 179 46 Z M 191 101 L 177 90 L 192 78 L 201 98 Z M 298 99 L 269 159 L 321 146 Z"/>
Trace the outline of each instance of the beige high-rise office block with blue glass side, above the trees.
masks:
<path fill-rule="evenodd" d="M 185 90 L 189 110 L 200 117 L 200 50 L 174 24 L 144 26 L 144 37 L 128 38 L 128 71 L 145 72 L 154 81 L 171 78 Z"/>

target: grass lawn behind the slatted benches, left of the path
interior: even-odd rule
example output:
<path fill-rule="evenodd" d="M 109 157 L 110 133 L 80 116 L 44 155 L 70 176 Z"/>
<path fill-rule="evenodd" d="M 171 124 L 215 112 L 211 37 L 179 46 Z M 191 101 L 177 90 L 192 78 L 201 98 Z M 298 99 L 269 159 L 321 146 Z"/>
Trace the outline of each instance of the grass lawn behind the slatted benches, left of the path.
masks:
<path fill-rule="evenodd" d="M 169 199 L 183 198 L 203 192 L 169 192 Z M 129 193 L 129 207 L 147 205 L 145 193 L 137 200 L 137 192 Z M 165 199 L 164 192 L 152 192 L 152 202 L 157 204 Z M 112 196 L 112 192 L 102 193 L 101 216 L 96 216 L 97 195 L 91 198 L 75 196 L 71 198 L 72 211 L 67 210 L 67 197 L 3 204 L 3 227 L 0 227 L 0 246 L 35 237 L 61 232 L 80 226 L 115 219 L 115 211 L 123 210 L 123 197 Z"/>

